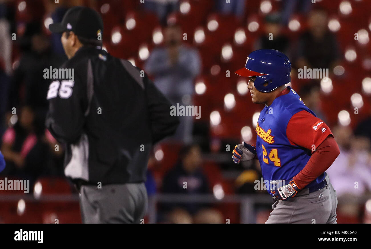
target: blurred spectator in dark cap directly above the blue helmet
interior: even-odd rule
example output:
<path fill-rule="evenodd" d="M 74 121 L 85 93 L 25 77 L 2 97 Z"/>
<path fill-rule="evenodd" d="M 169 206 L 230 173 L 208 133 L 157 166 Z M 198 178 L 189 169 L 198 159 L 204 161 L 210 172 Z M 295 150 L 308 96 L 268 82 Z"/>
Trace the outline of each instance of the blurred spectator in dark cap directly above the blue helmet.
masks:
<path fill-rule="evenodd" d="M 282 34 L 281 16 L 279 13 L 272 13 L 265 17 L 264 34 L 259 37 L 255 44 L 257 49 L 276 49 L 287 53 L 289 39 Z M 272 36 L 270 36 L 272 33 Z"/>

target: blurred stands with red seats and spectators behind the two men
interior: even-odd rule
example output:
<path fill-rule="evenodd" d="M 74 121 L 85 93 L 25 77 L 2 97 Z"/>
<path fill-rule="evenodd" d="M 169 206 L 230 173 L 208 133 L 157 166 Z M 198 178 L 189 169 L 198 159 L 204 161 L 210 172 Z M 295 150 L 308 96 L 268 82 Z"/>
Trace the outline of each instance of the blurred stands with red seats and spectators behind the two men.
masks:
<path fill-rule="evenodd" d="M 143 2 L 143 3 L 142 3 Z M 2 223 L 80 223 L 78 192 L 63 175 L 63 146 L 45 130 L 43 69 L 67 59 L 47 27 L 84 5 L 104 20 L 104 49 L 144 69 L 182 116 L 148 163 L 145 223 L 264 223 L 273 200 L 256 190 L 258 161 L 233 164 L 234 145 L 255 144 L 261 105 L 234 74 L 256 49 L 292 63 L 290 86 L 334 133 L 341 154 L 328 169 L 338 223 L 371 223 L 371 15 L 369 0 L 0 0 L 0 135 L 4 179 L 31 190 L 0 191 Z M 165 63 L 170 62 L 170 63 Z M 329 79 L 299 79 L 324 68 Z M 304 136 L 305 134 L 303 134 Z M 187 182 L 187 188 L 184 188 Z M 260 184 L 258 184 L 260 185 Z"/>

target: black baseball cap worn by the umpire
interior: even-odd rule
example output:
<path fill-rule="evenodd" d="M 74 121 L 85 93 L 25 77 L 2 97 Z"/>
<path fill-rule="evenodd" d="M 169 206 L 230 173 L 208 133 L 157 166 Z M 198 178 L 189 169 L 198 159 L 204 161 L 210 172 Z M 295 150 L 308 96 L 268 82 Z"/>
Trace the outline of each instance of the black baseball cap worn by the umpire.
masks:
<path fill-rule="evenodd" d="M 72 7 L 63 16 L 62 22 L 49 24 L 53 33 L 72 31 L 86 39 L 96 39 L 98 33 L 103 34 L 103 21 L 101 16 L 88 7 Z"/>

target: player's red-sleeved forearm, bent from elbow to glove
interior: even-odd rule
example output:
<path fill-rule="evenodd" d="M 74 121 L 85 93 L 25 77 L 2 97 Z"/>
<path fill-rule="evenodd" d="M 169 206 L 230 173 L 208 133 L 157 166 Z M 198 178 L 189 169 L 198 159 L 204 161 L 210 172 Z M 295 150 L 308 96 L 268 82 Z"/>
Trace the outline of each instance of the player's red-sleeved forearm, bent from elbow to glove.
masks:
<path fill-rule="evenodd" d="M 300 189 L 324 173 L 340 154 L 338 144 L 333 137 L 327 137 L 312 154 L 306 166 L 293 177 Z"/>

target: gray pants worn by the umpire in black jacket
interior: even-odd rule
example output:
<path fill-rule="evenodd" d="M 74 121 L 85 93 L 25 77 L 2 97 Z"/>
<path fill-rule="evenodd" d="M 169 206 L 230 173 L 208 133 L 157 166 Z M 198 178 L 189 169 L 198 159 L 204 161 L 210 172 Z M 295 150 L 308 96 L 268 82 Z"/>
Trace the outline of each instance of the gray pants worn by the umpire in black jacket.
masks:
<path fill-rule="evenodd" d="M 140 223 L 147 204 L 144 183 L 108 184 L 102 189 L 83 185 L 80 189 L 83 223 Z"/>

